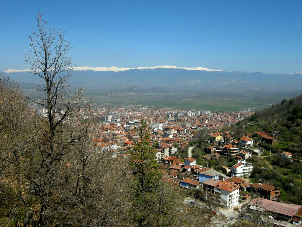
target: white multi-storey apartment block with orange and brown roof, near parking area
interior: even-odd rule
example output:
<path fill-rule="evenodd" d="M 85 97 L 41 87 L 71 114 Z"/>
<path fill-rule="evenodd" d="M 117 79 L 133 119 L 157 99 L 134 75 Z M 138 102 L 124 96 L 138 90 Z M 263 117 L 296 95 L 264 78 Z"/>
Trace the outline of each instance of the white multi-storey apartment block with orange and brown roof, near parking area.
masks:
<path fill-rule="evenodd" d="M 207 195 L 208 193 L 220 195 L 220 200 L 217 202 L 226 209 L 230 209 L 238 205 L 240 187 L 235 183 L 212 178 L 203 182 L 203 188 Z"/>

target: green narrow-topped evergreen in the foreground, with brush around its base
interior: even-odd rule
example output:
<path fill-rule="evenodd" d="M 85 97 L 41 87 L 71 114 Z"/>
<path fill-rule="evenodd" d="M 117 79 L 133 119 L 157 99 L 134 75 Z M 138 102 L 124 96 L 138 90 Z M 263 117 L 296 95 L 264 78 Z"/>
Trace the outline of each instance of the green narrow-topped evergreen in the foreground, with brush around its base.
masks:
<path fill-rule="evenodd" d="M 185 226 L 187 210 L 178 187 L 169 184 L 149 146 L 146 120 L 138 130 L 140 142 L 130 156 L 132 179 L 129 189 L 129 216 L 134 226 Z M 180 215 L 182 214 L 182 215 Z"/>

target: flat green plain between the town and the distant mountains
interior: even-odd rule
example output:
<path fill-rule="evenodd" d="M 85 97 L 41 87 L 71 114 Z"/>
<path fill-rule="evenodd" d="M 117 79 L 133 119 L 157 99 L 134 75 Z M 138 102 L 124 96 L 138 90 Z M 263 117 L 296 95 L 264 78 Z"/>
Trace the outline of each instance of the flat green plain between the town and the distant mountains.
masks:
<path fill-rule="evenodd" d="M 300 94 L 300 92 L 297 92 Z M 154 93 L 154 94 L 108 94 L 90 95 L 88 98 L 99 105 L 141 105 L 156 106 L 175 109 L 196 109 L 212 111 L 238 111 L 246 108 L 262 110 L 271 104 L 280 103 L 284 98 L 290 98 L 294 94 L 236 94 L 236 93 Z"/>

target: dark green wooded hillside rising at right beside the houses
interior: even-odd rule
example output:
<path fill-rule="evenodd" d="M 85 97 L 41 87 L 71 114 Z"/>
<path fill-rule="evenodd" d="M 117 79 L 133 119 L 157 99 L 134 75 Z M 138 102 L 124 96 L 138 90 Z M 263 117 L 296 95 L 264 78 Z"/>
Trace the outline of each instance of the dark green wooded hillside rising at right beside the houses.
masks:
<path fill-rule="evenodd" d="M 302 95 L 290 100 L 282 100 L 248 119 L 233 125 L 230 130 L 234 138 L 245 133 L 265 132 L 277 138 L 274 144 L 253 138 L 264 149 L 261 157 L 250 160 L 255 168 L 250 176 L 253 183 L 268 183 L 282 191 L 284 202 L 302 203 Z M 256 145 L 254 145 L 256 146 Z M 282 159 L 284 151 L 292 153 L 292 159 Z"/>

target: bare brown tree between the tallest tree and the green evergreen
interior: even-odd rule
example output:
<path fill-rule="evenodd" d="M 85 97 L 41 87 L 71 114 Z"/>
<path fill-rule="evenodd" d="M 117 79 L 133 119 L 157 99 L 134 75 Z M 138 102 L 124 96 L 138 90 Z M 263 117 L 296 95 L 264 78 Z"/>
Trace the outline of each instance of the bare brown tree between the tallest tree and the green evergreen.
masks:
<path fill-rule="evenodd" d="M 88 103 L 73 119 L 75 143 L 66 160 L 64 185 L 60 201 L 61 216 L 72 226 L 124 226 L 126 163 L 115 158 L 114 150 L 102 150 L 92 141 L 98 138 L 93 122 L 92 103 Z M 61 222 L 62 224 L 62 222 Z"/>

